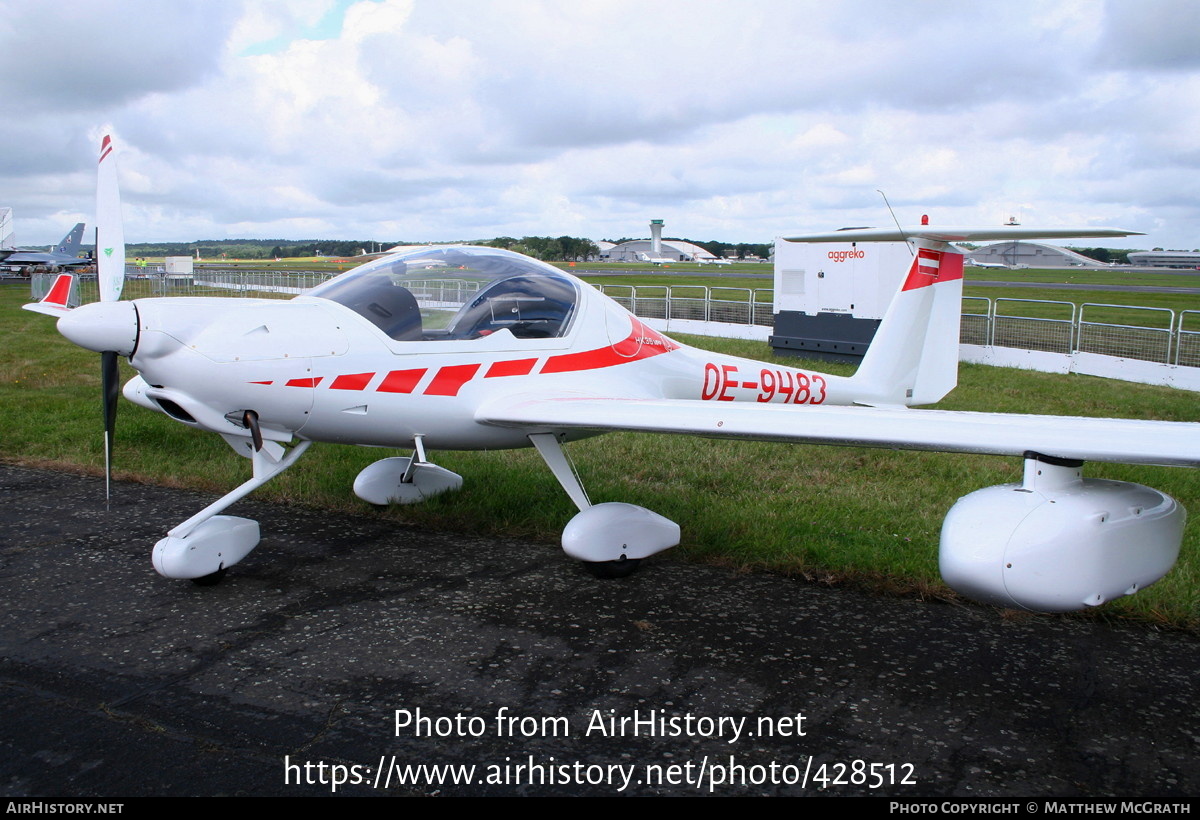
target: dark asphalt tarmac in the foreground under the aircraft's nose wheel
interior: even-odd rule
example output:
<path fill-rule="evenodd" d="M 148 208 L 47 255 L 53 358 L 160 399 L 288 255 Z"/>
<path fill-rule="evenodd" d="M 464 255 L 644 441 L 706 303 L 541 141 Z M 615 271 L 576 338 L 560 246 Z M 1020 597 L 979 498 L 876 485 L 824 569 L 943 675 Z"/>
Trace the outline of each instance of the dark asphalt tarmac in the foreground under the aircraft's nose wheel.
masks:
<path fill-rule="evenodd" d="M 1195 636 L 252 501 L 198 587 L 210 497 L 0 487 L 8 797 L 1200 794 Z"/>

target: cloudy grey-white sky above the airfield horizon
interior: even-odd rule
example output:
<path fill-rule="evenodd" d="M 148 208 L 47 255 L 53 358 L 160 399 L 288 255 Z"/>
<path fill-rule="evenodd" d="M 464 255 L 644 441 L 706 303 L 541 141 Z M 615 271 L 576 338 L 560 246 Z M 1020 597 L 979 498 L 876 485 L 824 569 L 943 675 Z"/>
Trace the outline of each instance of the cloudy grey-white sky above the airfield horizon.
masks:
<path fill-rule="evenodd" d="M 1200 247 L 1194 0 L 7 0 L 0 205 L 128 241 L 1112 225 Z"/>

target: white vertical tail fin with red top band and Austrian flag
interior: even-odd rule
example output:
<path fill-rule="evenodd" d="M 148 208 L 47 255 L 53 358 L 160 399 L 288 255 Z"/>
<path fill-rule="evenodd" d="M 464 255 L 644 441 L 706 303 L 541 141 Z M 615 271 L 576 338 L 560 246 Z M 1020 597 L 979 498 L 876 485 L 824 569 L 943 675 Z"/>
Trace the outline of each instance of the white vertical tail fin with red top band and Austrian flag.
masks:
<path fill-rule="evenodd" d="M 908 275 L 852 383 L 862 405 L 932 405 L 959 383 L 962 255 L 917 240 Z"/>

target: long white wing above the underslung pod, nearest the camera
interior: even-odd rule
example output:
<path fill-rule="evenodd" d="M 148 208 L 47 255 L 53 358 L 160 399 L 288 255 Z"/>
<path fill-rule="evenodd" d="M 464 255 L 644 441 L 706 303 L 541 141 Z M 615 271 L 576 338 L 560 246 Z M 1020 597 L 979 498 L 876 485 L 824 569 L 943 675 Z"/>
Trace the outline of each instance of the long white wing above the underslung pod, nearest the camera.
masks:
<path fill-rule="evenodd" d="M 475 418 L 536 431 L 626 430 L 1015 456 L 1033 450 L 1084 461 L 1200 466 L 1200 424 L 1188 421 L 529 395 L 487 402 Z"/>

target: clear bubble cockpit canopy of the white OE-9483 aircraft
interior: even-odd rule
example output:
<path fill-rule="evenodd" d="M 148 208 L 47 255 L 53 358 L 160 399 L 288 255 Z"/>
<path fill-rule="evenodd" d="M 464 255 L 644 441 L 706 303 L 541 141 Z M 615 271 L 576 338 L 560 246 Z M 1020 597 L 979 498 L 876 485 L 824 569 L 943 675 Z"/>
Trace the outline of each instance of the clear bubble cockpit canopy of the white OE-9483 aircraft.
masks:
<path fill-rule="evenodd" d="M 389 255 L 308 292 L 396 341 L 566 334 L 578 287 L 553 268 L 494 247 L 425 247 Z"/>

